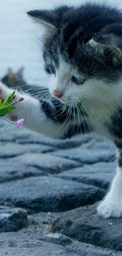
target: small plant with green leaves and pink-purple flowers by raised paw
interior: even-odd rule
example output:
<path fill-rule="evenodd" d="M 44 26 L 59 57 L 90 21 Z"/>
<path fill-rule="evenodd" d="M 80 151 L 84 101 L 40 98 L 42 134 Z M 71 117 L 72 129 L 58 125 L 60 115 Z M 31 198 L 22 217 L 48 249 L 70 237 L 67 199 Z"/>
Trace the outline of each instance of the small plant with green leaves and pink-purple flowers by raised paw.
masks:
<path fill-rule="evenodd" d="M 14 101 L 15 99 L 15 91 L 12 92 L 7 99 L 5 99 L 2 102 L 2 99 L 0 99 L 0 118 L 2 118 L 3 120 L 11 123 L 11 124 L 15 124 L 17 126 L 17 128 L 21 127 L 23 125 L 24 122 L 24 118 L 16 121 L 16 122 L 12 122 L 10 120 L 8 120 L 7 118 L 3 117 L 6 114 L 8 114 L 10 111 L 16 109 L 15 106 L 13 106 L 15 103 L 21 102 L 22 100 L 24 100 L 23 97 L 19 98 L 18 100 Z"/>

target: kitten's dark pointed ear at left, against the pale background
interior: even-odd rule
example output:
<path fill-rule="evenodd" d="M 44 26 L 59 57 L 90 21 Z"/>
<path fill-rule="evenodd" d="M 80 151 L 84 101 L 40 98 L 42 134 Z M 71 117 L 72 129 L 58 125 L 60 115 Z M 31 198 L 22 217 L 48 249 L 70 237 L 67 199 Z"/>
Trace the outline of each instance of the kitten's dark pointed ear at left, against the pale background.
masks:
<path fill-rule="evenodd" d="M 67 5 L 55 8 L 54 10 L 33 10 L 27 12 L 33 20 L 44 25 L 48 29 L 59 27 L 64 13 L 68 10 Z"/>

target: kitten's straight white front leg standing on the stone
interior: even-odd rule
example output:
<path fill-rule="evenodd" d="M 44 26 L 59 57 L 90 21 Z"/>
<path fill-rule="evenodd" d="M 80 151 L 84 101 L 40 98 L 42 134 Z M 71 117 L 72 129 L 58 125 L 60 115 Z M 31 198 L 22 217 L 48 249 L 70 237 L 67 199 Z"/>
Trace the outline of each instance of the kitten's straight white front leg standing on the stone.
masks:
<path fill-rule="evenodd" d="M 119 218 L 122 215 L 122 149 L 119 152 L 117 173 L 111 183 L 110 191 L 97 207 L 104 218 Z"/>

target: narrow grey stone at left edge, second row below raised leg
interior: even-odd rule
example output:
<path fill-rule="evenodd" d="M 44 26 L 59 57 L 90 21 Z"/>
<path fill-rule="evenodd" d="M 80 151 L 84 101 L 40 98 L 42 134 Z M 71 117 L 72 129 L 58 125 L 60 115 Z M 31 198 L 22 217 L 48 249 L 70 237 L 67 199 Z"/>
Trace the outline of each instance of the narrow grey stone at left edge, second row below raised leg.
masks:
<path fill-rule="evenodd" d="M 13 142 L 0 142 L 0 158 L 15 157 L 24 153 L 45 153 L 53 150 L 52 147 L 45 145 L 20 145 Z"/>

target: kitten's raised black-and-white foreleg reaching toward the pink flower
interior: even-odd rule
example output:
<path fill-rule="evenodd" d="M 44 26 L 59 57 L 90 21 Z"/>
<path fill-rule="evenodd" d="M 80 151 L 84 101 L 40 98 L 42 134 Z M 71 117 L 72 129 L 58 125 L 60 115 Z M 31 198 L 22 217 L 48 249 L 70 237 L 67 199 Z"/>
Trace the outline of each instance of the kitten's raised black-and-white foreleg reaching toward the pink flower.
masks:
<path fill-rule="evenodd" d="M 12 89 L 9 89 L 0 83 L 0 98 L 5 100 Z M 35 132 L 47 135 L 54 139 L 65 139 L 73 135 L 74 118 L 71 116 L 71 111 L 62 111 L 62 103 L 57 100 L 38 100 L 27 94 L 22 95 L 20 92 L 15 92 L 15 100 L 24 96 L 24 101 L 16 105 L 17 109 L 12 110 L 8 114 L 8 119 L 17 121 L 24 118 L 24 126 Z M 67 121 L 66 121 L 67 120 Z"/>

